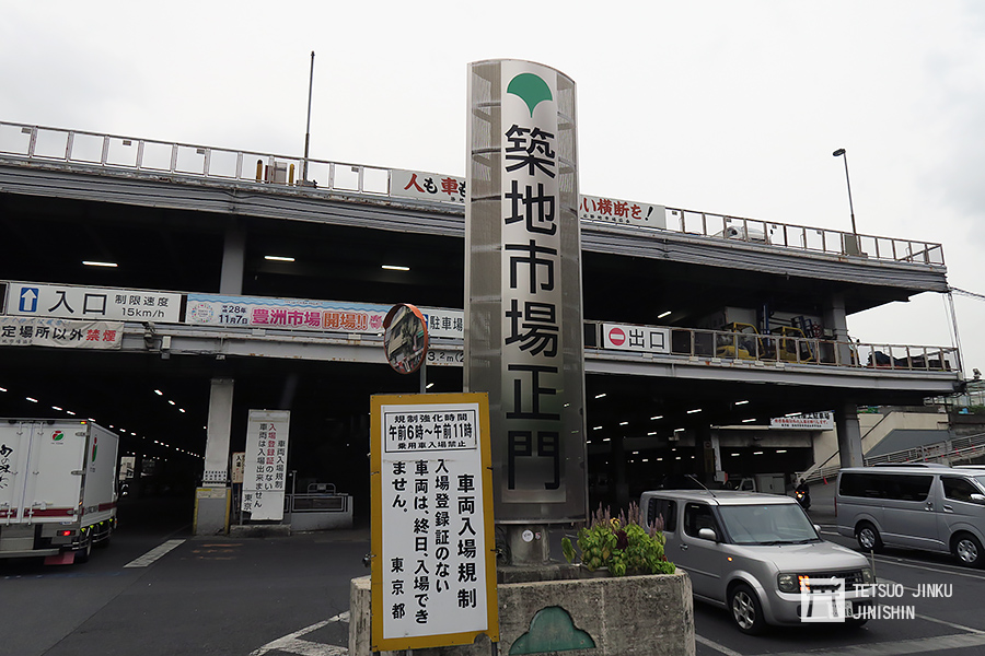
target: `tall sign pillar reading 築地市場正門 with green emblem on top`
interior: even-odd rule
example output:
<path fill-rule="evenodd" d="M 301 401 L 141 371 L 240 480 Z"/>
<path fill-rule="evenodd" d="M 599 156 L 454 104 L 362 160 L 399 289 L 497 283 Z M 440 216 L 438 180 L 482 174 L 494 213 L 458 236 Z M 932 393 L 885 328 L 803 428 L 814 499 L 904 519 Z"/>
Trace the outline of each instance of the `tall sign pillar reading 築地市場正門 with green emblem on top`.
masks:
<path fill-rule="evenodd" d="M 489 395 L 494 514 L 514 563 L 588 514 L 575 82 L 468 67 L 465 389 Z"/>

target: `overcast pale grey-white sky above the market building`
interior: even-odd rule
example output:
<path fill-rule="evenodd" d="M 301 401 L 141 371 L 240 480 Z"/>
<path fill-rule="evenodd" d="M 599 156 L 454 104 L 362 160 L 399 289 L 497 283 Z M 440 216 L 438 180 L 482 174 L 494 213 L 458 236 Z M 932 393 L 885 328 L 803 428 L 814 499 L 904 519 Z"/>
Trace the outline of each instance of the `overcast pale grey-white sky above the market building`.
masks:
<path fill-rule="evenodd" d="M 529 59 L 578 84 L 582 194 L 848 231 L 844 148 L 858 231 L 941 243 L 985 294 L 985 3 L 0 9 L 0 120 L 300 155 L 314 50 L 313 159 L 462 176 L 467 63 Z M 970 375 L 985 302 L 954 303 Z M 864 342 L 951 345 L 950 325 L 939 294 L 849 317 Z"/>

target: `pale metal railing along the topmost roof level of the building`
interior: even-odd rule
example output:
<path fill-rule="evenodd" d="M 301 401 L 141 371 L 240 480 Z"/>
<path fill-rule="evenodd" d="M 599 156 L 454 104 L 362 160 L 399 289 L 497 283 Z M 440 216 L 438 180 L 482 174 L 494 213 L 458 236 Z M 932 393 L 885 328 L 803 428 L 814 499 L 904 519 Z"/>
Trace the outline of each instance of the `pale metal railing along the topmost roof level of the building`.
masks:
<path fill-rule="evenodd" d="M 115 134 L 48 128 L 0 121 L 0 155 L 26 157 L 38 162 L 65 162 L 97 166 L 107 171 L 137 171 L 183 175 L 215 180 L 281 187 L 302 187 L 313 194 L 350 191 L 386 198 L 427 198 L 462 206 L 463 196 L 434 194 L 440 186 L 464 190 L 465 179 L 437 176 L 428 180 L 433 196 L 418 195 L 394 184 L 396 169 L 344 162 L 329 162 L 290 155 L 237 151 L 192 143 L 155 141 Z M 306 179 L 300 179 L 306 171 Z M 414 172 L 401 172 L 414 174 Z M 421 177 L 430 174 L 421 174 Z M 316 184 L 313 180 L 318 180 Z M 420 188 L 410 178 L 410 183 Z M 427 185 L 426 185 L 427 186 Z M 422 191 L 422 189 L 421 189 Z M 625 203 L 624 203 L 625 204 Z M 588 224 L 605 224 L 624 230 L 732 239 L 772 247 L 795 248 L 836 256 L 855 256 L 882 261 L 943 266 L 940 244 L 860 235 L 836 230 L 742 219 L 693 210 L 663 208 L 663 227 L 624 224 L 622 222 L 583 220 Z"/>

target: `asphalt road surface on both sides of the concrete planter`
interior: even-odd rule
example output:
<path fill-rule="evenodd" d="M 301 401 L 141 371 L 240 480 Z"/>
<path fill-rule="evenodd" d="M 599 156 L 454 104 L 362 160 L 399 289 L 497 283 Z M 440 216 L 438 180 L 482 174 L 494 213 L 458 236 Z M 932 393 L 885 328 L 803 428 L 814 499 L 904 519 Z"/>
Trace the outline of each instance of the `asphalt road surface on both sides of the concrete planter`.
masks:
<path fill-rule="evenodd" d="M 812 493 L 812 518 L 823 537 L 854 547 L 833 535 L 830 490 Z M 125 500 L 113 544 L 94 550 L 89 563 L 0 561 L 0 656 L 346 654 L 349 581 L 368 573 L 361 562 L 367 528 L 193 538 L 189 517 L 184 501 Z M 155 560 L 148 555 L 164 548 Z M 985 654 L 985 571 L 905 550 L 876 557 L 876 569 L 881 582 L 903 586 L 903 597 L 881 604 L 912 606 L 914 619 L 872 620 L 856 630 L 802 625 L 750 637 L 725 610 L 697 602 L 697 655 Z M 914 598 L 920 584 L 950 586 L 949 596 Z"/>

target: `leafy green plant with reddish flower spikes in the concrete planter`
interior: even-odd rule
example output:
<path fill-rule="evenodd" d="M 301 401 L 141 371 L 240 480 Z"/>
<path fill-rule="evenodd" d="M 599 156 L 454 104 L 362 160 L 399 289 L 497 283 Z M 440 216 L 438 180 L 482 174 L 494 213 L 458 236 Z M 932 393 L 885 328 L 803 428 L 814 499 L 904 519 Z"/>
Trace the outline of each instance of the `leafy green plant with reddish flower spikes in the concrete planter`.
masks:
<path fill-rule="evenodd" d="M 578 530 L 577 544 L 581 563 L 594 572 L 606 567 L 613 576 L 626 574 L 673 574 L 674 564 L 663 553 L 665 539 L 662 522 L 644 527 L 639 522 L 639 506 L 629 504 L 628 516 L 622 512 L 612 517 L 609 508 L 592 514 L 588 526 Z M 565 558 L 575 561 L 571 539 L 561 540 Z"/>

